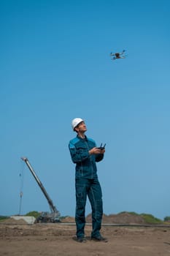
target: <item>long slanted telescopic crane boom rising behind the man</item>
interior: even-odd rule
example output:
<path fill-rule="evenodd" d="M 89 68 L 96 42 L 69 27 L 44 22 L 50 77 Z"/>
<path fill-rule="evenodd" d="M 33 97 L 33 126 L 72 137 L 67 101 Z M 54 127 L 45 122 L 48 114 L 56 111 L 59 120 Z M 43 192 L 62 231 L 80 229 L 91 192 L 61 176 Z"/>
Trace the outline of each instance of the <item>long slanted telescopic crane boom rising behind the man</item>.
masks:
<path fill-rule="evenodd" d="M 50 206 L 50 211 L 52 216 L 55 216 L 55 218 L 59 218 L 60 217 L 60 213 L 57 210 L 57 208 L 54 206 L 53 201 L 50 199 L 50 196 L 47 194 L 47 191 L 45 189 L 45 187 L 43 186 L 42 182 L 39 180 L 39 177 L 36 175 L 33 167 L 31 166 L 30 162 L 28 161 L 28 158 L 26 157 L 21 157 L 21 159 L 26 162 L 26 165 L 28 166 L 29 170 L 31 171 L 32 175 L 34 176 L 37 184 L 39 185 L 40 189 L 42 189 L 43 194 L 45 195 L 47 202 Z"/>

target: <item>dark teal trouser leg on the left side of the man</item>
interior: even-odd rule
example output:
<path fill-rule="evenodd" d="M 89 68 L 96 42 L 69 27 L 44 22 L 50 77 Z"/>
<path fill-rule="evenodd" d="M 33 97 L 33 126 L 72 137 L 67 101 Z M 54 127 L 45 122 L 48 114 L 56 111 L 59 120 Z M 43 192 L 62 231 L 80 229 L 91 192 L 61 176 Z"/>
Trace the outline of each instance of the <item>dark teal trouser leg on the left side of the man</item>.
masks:
<path fill-rule="evenodd" d="M 85 204 L 87 200 L 87 185 L 85 180 L 76 179 L 76 214 L 77 238 L 85 236 Z"/>

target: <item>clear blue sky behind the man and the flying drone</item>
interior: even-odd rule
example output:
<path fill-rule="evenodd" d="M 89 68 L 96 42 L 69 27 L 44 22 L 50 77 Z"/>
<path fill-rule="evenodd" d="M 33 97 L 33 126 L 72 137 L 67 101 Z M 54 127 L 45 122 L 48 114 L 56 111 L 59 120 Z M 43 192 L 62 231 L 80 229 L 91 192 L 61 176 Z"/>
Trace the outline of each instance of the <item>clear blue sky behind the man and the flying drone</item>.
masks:
<path fill-rule="evenodd" d="M 28 157 L 74 216 L 75 117 L 107 143 L 104 213 L 170 215 L 169 10 L 168 0 L 0 1 L 1 215 L 18 214 L 21 189 L 21 214 L 49 211 Z M 126 59 L 110 59 L 123 49 Z"/>

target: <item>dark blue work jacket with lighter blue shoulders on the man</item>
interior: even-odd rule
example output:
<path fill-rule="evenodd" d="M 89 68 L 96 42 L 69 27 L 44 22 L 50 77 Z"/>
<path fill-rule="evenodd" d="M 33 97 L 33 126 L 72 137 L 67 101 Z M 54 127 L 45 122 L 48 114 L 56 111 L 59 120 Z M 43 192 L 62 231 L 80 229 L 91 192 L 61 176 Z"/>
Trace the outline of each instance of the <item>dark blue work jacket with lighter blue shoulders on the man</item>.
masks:
<path fill-rule="evenodd" d="M 76 138 L 69 141 L 69 151 L 72 162 L 76 164 L 76 178 L 96 178 L 96 162 L 104 158 L 104 154 L 89 154 L 90 149 L 96 147 L 94 140 L 87 138 Z"/>

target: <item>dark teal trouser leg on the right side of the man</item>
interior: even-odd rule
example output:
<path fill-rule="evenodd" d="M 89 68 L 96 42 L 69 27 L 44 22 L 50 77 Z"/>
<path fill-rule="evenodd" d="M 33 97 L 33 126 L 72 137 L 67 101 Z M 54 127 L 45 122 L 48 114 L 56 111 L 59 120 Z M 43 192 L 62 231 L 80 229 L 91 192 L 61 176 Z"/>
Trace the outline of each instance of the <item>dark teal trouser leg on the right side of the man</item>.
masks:
<path fill-rule="evenodd" d="M 101 220 L 103 217 L 102 192 L 101 185 L 99 184 L 98 179 L 92 180 L 90 184 L 90 189 L 88 191 L 88 198 L 90 200 L 90 205 L 92 208 L 93 230 L 91 236 L 98 237 L 100 236 Z"/>

